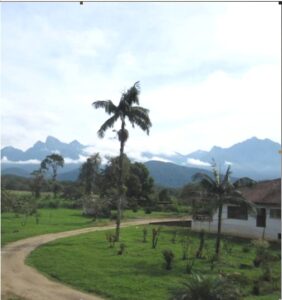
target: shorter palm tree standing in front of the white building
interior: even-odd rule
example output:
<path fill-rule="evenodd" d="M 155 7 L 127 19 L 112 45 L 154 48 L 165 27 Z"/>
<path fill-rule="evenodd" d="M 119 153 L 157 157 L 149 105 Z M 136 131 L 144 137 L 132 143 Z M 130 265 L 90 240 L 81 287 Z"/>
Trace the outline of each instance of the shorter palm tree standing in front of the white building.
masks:
<path fill-rule="evenodd" d="M 218 210 L 218 224 L 217 237 L 215 245 L 216 256 L 220 255 L 220 241 L 221 241 L 221 225 L 222 225 L 222 208 L 224 204 L 236 204 L 246 207 L 248 210 L 255 211 L 255 205 L 245 199 L 239 190 L 230 181 L 231 166 L 227 167 L 224 175 L 221 175 L 216 168 L 215 162 L 212 164 L 213 176 L 204 173 L 197 173 L 194 175 L 194 180 L 199 180 L 202 188 L 205 190 L 205 198 L 207 200 L 207 207 L 212 208 L 213 211 Z"/>

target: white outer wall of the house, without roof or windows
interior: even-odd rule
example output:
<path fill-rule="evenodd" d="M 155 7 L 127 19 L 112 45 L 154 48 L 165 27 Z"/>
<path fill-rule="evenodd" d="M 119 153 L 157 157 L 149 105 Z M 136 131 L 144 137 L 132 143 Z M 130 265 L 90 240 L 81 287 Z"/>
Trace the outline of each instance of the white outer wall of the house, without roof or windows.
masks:
<path fill-rule="evenodd" d="M 228 205 L 229 206 L 229 205 Z M 259 208 L 266 208 L 266 228 L 264 237 L 268 240 L 278 240 L 278 234 L 281 233 L 281 219 L 270 218 L 269 212 L 271 208 L 258 206 Z M 192 229 L 199 231 L 201 229 L 207 232 L 217 232 L 217 217 L 216 213 L 213 216 L 212 222 L 207 221 L 192 221 Z M 227 218 L 227 205 L 224 205 L 222 210 L 222 227 L 221 232 L 247 238 L 262 238 L 263 227 L 256 226 L 256 216 L 248 215 L 248 220 L 228 219 Z"/>

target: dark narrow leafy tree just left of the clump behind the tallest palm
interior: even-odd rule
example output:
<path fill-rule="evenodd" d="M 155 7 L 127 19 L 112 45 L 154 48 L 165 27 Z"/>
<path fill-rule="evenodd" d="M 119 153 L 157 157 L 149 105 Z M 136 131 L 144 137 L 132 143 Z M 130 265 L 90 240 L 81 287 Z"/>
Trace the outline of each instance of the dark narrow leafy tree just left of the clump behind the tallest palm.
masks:
<path fill-rule="evenodd" d="M 79 180 L 84 185 L 86 195 L 90 195 L 95 190 L 100 166 L 101 157 L 99 153 L 96 153 L 87 158 L 87 161 L 80 168 Z"/>

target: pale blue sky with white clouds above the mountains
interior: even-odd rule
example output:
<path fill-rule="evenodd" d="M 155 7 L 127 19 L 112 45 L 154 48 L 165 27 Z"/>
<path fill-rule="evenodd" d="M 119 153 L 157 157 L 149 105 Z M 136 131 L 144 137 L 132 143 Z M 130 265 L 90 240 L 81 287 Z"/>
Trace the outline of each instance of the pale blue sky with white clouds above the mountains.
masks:
<path fill-rule="evenodd" d="M 91 104 L 117 104 L 136 81 L 153 126 L 128 125 L 131 156 L 281 142 L 276 2 L 2 3 L 1 30 L 1 147 L 51 135 L 117 155 Z"/>

